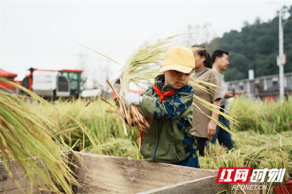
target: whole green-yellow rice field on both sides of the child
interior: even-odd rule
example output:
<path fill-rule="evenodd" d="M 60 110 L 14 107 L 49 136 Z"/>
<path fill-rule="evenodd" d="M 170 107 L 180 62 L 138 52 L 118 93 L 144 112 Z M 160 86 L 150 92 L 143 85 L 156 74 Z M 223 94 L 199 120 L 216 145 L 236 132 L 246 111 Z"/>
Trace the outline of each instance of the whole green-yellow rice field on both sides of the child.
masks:
<path fill-rule="evenodd" d="M 2 97 L 4 96 L 2 95 Z M 45 131 L 46 138 L 54 140 L 55 145 L 50 144 L 58 147 L 55 148 L 58 150 L 57 152 L 72 149 L 143 160 L 139 151 L 140 140 L 136 131 L 128 129 L 128 136 L 126 136 L 120 117 L 110 113 L 108 110 L 110 106 L 100 98 L 96 98 L 88 107 L 85 107 L 86 101 L 84 99 L 59 100 L 53 104 L 42 100 L 39 100 L 40 103 L 27 103 L 25 99 L 9 95 L 5 97 L 2 100 L 5 103 L 1 105 L 1 110 L 11 110 L 13 106 L 17 106 L 18 109 L 15 111 L 18 113 L 20 123 L 24 122 L 29 125 L 29 122 L 39 122 L 41 129 L 48 129 Z M 7 100 L 9 98 L 11 98 L 10 101 Z M 9 103 L 13 105 L 11 108 L 9 108 Z M 110 103 L 114 104 L 113 101 Z M 23 111 L 26 117 L 20 116 L 20 111 Z M 235 133 L 233 136 L 235 148 L 227 151 L 218 144 L 210 144 L 209 153 L 205 157 L 199 158 L 201 168 L 286 168 L 284 181 L 292 179 L 291 113 L 291 97 L 282 104 L 236 98 L 231 103 L 231 114 L 239 121 L 240 126 L 234 125 L 232 127 L 232 131 Z M 33 114 L 35 120 L 30 120 L 29 114 Z M 15 123 L 11 124 L 15 125 Z M 1 128 L 1 136 L 3 135 L 2 131 L 5 132 L 5 126 Z M 34 136 L 37 135 L 39 134 L 32 131 L 30 138 L 33 140 Z M 43 144 L 46 144 L 46 141 L 48 140 L 44 140 Z M 23 151 L 25 150 L 27 149 L 23 149 Z M 32 155 L 28 156 L 46 154 L 41 153 L 41 150 L 39 152 L 31 151 Z M 12 150 L 0 149 L 0 160 L 5 161 L 15 157 L 9 153 L 12 153 Z M 45 159 L 44 163 L 51 162 L 48 157 Z M 25 162 L 24 157 L 20 157 L 21 160 Z M 52 166 L 52 170 L 54 170 L 53 168 L 54 166 Z M 40 173 L 42 174 L 39 177 L 45 178 L 45 173 Z M 70 173 L 70 170 L 66 173 Z M 68 188 L 66 181 L 64 182 L 64 188 Z M 60 180 L 60 184 L 63 183 Z M 46 184 L 48 186 L 51 182 Z M 72 184 L 74 184 L 74 179 L 72 179 Z M 40 188 L 40 190 L 44 190 L 44 188 Z"/>

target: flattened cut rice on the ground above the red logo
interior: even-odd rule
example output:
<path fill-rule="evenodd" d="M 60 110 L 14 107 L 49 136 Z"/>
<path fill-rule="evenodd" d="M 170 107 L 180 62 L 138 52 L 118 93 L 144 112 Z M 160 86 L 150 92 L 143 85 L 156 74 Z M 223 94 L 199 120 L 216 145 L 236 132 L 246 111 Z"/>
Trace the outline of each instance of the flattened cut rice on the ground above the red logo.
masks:
<path fill-rule="evenodd" d="M 292 178 L 292 131 L 276 134 L 240 131 L 234 138 L 234 149 L 209 144 L 209 152 L 199 157 L 201 168 L 220 167 L 286 168 L 284 180 Z M 279 184 L 274 184 L 279 185 Z"/>

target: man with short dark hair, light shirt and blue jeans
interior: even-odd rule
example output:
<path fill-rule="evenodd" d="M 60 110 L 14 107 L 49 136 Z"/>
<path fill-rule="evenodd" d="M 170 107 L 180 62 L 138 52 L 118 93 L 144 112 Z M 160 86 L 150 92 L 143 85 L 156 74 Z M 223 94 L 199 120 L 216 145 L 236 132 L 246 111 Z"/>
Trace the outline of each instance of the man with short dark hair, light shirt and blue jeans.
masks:
<path fill-rule="evenodd" d="M 224 50 L 215 50 L 212 54 L 212 63 L 213 69 L 219 73 L 220 81 L 221 81 L 221 108 L 225 109 L 229 112 L 229 104 L 227 99 L 230 97 L 234 97 L 234 92 L 227 90 L 227 85 L 224 81 L 224 75 L 221 72 L 226 71 L 229 65 L 229 56 L 228 52 Z M 222 110 L 221 110 L 222 111 Z M 227 113 L 225 112 L 225 113 Z M 229 121 L 219 115 L 219 122 L 225 125 L 228 129 L 230 129 Z M 216 133 L 212 138 L 212 143 L 215 144 L 218 139 L 219 144 L 225 146 L 227 149 L 233 148 L 233 142 L 231 138 L 231 134 L 221 127 L 217 126 Z"/>

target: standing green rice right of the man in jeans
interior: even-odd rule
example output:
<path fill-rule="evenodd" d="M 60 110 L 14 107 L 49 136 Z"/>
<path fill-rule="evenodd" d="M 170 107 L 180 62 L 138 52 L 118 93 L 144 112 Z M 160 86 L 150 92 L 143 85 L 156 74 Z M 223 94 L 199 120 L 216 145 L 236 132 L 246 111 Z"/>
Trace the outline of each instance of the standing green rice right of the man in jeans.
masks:
<path fill-rule="evenodd" d="M 292 128 L 292 97 L 283 103 L 239 97 L 232 101 L 230 110 L 240 123 L 240 127 L 235 126 L 236 130 L 275 133 Z"/>

